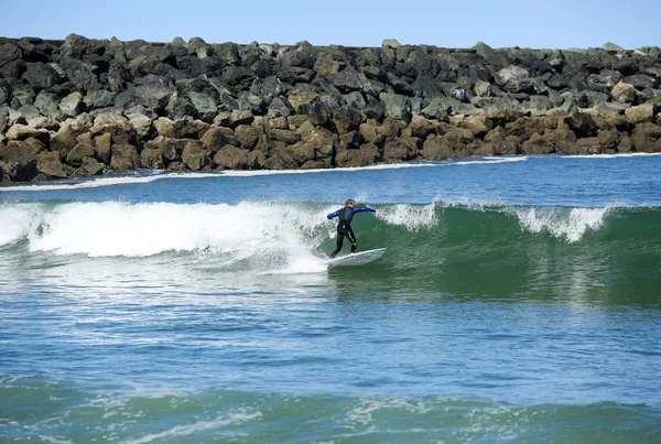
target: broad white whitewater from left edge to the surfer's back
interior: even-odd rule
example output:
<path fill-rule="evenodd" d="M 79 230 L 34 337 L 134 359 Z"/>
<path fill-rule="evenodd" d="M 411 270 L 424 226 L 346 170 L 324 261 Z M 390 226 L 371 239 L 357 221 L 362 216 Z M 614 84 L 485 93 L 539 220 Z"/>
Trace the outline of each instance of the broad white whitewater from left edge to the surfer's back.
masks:
<path fill-rule="evenodd" d="M 30 251 L 142 258 L 194 253 L 201 268 L 318 273 L 315 249 L 334 232 L 326 215 L 292 204 L 238 205 L 121 202 L 0 206 L 0 247 L 26 240 Z"/>

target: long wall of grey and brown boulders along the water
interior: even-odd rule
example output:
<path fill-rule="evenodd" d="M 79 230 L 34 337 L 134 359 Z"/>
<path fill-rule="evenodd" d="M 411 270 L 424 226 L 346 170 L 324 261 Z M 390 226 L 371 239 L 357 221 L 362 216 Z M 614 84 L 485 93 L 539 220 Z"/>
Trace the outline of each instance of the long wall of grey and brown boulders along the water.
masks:
<path fill-rule="evenodd" d="M 661 50 L 0 39 L 0 178 L 661 152 Z"/>

